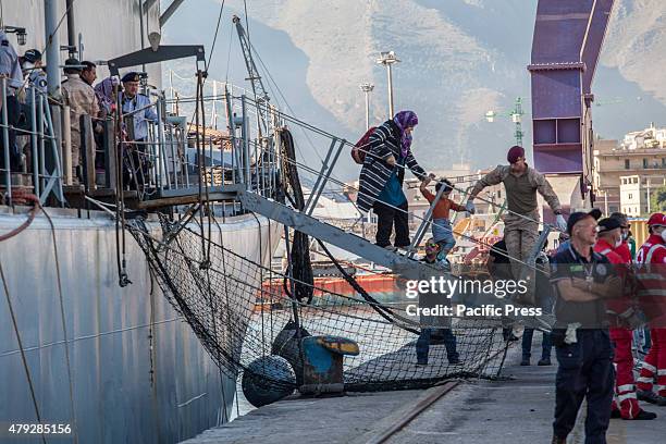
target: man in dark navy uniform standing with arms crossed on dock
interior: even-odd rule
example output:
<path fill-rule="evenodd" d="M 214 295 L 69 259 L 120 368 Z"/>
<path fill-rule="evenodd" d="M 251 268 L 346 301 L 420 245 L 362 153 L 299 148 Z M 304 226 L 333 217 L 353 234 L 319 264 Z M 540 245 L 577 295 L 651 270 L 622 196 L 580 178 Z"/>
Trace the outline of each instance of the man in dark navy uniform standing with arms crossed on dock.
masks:
<path fill-rule="evenodd" d="M 621 296 L 622 283 L 608 259 L 594 251 L 596 221 L 575 212 L 567 221 L 570 245 L 551 261 L 556 293 L 555 421 L 553 443 L 564 444 L 574 430 L 583 398 L 588 400 L 585 443 L 605 443 L 610 420 L 615 371 L 606 319 L 606 298 Z"/>

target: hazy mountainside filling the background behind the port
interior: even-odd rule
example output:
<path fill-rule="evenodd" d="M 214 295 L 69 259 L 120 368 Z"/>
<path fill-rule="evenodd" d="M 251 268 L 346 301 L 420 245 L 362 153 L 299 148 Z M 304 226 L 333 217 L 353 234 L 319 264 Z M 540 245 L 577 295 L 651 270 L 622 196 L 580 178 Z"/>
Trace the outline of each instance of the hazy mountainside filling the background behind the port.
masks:
<path fill-rule="evenodd" d="M 375 59 L 394 50 L 402 60 L 394 69 L 395 108 L 419 115 L 414 150 L 427 169 L 501 162 L 514 144 L 506 114 L 518 96 L 528 112 L 523 131 L 530 145 L 526 66 L 535 0 L 252 0 L 247 8 L 264 82 L 270 73 L 292 112 L 317 126 L 358 138 L 365 125 L 363 82 L 375 85 L 372 122 L 385 120 L 386 72 Z M 200 42 L 210 51 L 219 9 L 219 0 L 185 3 L 165 28 L 166 41 Z M 209 71 L 211 77 L 244 84 L 233 13 L 245 17 L 243 2 L 226 1 Z M 593 86 L 601 104 L 593 110 L 597 134 L 617 138 L 651 121 L 666 123 L 665 14 L 663 0 L 616 0 Z M 283 101 L 275 87 L 270 94 Z M 488 110 L 503 115 L 488 123 Z M 297 141 L 304 157 L 325 152 L 323 140 L 297 134 Z M 343 176 L 358 172 L 348 160 L 341 168 Z"/>

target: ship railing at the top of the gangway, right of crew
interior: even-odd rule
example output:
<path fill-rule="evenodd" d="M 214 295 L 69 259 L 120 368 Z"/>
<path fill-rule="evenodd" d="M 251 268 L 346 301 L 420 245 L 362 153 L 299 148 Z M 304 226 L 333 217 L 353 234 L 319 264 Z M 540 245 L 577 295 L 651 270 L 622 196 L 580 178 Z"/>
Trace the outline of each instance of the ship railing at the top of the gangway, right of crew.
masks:
<path fill-rule="evenodd" d="M 275 197 L 280 160 L 275 146 L 279 119 L 273 108 L 266 106 L 263 113 L 258 113 L 248 109 L 244 95 L 233 96 L 230 91 L 221 100 L 226 131 L 206 127 L 203 119 L 197 125 L 193 116 L 168 113 L 169 100 L 161 94 L 146 107 L 156 111 L 157 119 L 146 121 L 148 136 L 140 141 L 134 140 L 134 123 L 146 108 L 122 114 L 122 122 L 103 121 L 103 133 L 109 136 L 104 137 L 103 152 L 98 153 L 104 158 L 103 176 L 95 171 L 94 161 L 85 155 L 94 149 L 83 147 L 82 150 L 86 194 L 99 194 L 98 185 L 135 190 L 139 208 L 192 203 L 197 196 L 199 200 L 231 201 L 239 189 Z M 258 114 L 271 121 L 258 122 L 254 119 Z M 83 133 L 91 134 L 92 119 L 88 115 L 82 119 Z M 114 130 L 114 125 L 122 131 Z M 84 138 L 94 147 L 92 138 Z M 134 178 L 124 183 L 122 177 L 132 156 L 135 160 L 138 156 L 145 165 L 146 177 L 140 184 Z"/>

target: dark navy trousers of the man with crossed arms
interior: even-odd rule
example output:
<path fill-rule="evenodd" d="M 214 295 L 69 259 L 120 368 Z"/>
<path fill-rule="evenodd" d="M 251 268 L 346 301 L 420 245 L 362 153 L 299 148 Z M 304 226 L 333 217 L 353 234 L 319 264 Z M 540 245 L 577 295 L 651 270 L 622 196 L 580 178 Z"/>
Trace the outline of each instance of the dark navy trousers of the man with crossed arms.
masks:
<path fill-rule="evenodd" d="M 557 437 L 567 437 L 587 398 L 585 444 L 605 444 L 615 386 L 610 336 L 604 329 L 579 329 L 576 333 L 577 343 L 556 349 L 559 368 L 555 378 L 553 431 Z"/>

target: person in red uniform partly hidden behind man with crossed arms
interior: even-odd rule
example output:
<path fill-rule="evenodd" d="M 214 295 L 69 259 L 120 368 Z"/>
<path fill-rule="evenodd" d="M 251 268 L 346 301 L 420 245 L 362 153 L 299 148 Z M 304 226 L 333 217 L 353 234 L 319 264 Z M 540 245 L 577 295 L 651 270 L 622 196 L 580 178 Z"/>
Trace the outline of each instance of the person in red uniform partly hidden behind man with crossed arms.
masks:
<path fill-rule="evenodd" d="M 615 272 L 626 276 L 627 269 L 624 264 L 631 263 L 624 259 L 617 251 L 622 246 L 621 223 L 616 218 L 606 218 L 599 221 L 597 240 L 594 244 L 594 251 L 604 255 L 610 263 L 617 266 Z M 617 313 L 626 312 L 625 300 L 608 303 L 608 308 Z M 636 385 L 633 381 L 633 355 L 631 354 L 631 341 L 633 334 L 631 330 L 622 326 L 612 326 L 610 341 L 615 347 L 615 398 L 613 399 L 610 418 L 622 418 L 633 420 L 655 419 L 656 414 L 643 410 L 638 403 Z"/>

